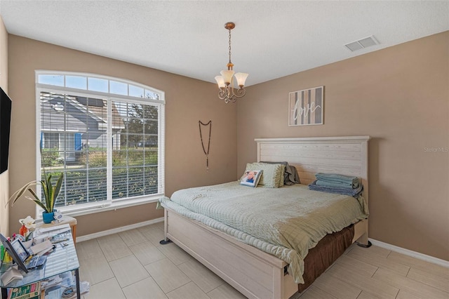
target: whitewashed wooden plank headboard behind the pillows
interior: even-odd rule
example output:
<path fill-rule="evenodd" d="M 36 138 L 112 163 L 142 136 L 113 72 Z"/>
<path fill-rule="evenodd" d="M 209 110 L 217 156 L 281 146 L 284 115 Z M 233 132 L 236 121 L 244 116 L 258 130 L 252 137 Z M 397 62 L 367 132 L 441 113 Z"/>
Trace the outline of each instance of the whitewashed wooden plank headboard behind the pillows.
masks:
<path fill-rule="evenodd" d="M 296 167 L 304 185 L 320 172 L 357 176 L 367 200 L 368 140 L 370 136 L 255 139 L 257 161 L 287 161 Z"/>

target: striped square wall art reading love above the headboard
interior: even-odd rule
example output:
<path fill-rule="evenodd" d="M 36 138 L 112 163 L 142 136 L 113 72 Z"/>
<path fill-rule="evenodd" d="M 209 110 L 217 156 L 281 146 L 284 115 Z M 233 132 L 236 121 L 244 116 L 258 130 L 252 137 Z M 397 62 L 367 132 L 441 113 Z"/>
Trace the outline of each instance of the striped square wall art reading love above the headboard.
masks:
<path fill-rule="evenodd" d="M 288 126 L 323 124 L 324 86 L 288 94 Z"/>

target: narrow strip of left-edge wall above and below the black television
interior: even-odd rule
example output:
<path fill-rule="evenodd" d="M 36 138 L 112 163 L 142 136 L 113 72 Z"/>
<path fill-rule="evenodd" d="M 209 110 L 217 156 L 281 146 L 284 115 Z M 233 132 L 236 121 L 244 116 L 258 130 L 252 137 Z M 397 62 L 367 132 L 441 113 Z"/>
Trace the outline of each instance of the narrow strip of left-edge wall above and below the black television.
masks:
<path fill-rule="evenodd" d="M 0 86 L 8 93 L 8 32 L 0 16 Z M 0 174 L 0 233 L 8 235 L 9 171 Z"/>

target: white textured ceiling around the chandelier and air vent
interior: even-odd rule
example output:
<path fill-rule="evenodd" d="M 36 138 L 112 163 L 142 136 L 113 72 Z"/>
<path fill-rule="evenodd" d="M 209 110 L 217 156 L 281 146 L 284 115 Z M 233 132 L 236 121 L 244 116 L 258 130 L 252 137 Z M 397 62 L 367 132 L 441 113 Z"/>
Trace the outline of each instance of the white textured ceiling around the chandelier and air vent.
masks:
<path fill-rule="evenodd" d="M 449 30 L 449 1 L 0 0 L 6 30 L 215 82 L 228 61 L 247 85 Z M 374 35 L 379 45 L 344 44 Z"/>

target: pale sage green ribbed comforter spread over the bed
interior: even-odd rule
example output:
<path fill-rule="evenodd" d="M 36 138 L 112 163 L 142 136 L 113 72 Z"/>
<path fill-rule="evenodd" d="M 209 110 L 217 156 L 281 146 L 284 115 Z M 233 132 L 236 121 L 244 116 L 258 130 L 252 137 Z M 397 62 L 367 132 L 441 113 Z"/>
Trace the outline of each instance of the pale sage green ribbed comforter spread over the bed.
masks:
<path fill-rule="evenodd" d="M 161 205 L 275 255 L 304 283 L 304 258 L 326 234 L 368 218 L 363 197 L 312 191 L 306 185 L 252 188 L 228 182 L 163 197 Z"/>

